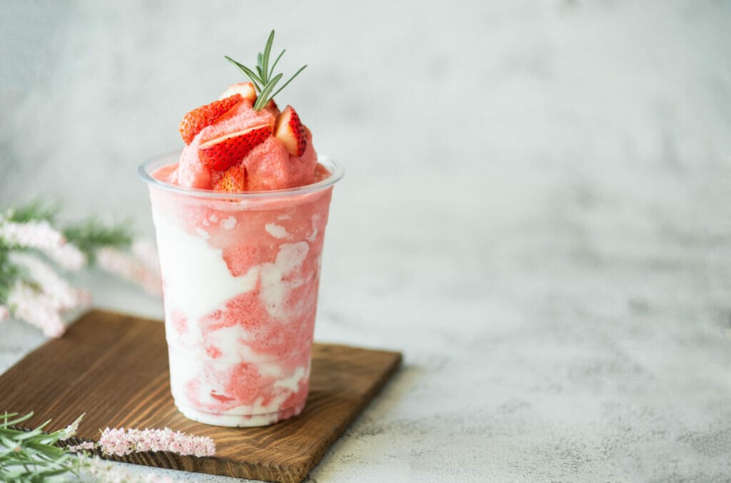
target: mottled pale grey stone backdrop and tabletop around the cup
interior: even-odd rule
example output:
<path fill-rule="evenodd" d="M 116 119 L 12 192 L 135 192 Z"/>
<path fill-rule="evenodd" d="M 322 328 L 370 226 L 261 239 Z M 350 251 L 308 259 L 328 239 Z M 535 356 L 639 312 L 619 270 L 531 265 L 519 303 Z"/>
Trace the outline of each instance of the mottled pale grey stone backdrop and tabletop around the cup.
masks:
<path fill-rule="evenodd" d="M 313 481 L 731 479 L 727 3 L 180 4 L 4 3 L 0 202 L 151 234 L 136 165 L 276 27 L 346 166 L 317 338 L 405 354 Z"/>

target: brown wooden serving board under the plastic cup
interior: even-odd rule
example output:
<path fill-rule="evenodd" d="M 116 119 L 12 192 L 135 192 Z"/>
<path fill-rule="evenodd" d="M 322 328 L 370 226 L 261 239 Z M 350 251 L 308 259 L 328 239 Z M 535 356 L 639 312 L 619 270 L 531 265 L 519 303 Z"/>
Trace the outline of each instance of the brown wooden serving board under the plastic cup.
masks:
<path fill-rule="evenodd" d="M 91 311 L 0 376 L 0 412 L 34 411 L 23 426 L 66 427 L 86 413 L 81 441 L 105 427 L 170 427 L 216 441 L 214 457 L 148 452 L 110 459 L 185 471 L 301 482 L 401 364 L 398 352 L 314 345 L 310 394 L 298 417 L 267 427 L 190 421 L 173 406 L 164 325 Z"/>

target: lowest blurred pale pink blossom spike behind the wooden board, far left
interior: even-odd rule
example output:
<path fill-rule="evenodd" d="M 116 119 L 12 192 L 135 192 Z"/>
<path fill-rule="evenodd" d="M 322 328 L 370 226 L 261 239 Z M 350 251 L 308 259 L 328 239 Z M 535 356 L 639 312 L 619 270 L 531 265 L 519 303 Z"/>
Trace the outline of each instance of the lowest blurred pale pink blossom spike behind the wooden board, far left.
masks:
<path fill-rule="evenodd" d="M 7 297 L 13 316 L 39 327 L 48 337 L 61 337 L 66 325 L 58 313 L 56 303 L 47 295 L 28 284 L 16 282 Z"/>

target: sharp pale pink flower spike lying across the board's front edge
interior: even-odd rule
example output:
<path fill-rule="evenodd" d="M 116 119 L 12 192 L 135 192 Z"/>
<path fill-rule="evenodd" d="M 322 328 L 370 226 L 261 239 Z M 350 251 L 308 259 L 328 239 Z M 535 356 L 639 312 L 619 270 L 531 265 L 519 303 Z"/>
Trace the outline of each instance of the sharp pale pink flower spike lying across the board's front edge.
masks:
<path fill-rule="evenodd" d="M 167 451 L 178 455 L 213 456 L 216 444 L 205 436 L 189 436 L 169 428 L 162 430 L 107 429 L 99 438 L 107 455 L 124 456 L 132 452 Z"/>

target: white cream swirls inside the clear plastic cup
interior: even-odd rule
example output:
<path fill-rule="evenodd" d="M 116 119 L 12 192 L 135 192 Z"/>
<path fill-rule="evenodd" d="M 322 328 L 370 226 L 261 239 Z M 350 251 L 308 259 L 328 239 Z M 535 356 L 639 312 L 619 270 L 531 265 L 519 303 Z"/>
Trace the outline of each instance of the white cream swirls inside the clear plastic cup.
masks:
<path fill-rule="evenodd" d="M 284 301 L 287 300 L 289 290 L 302 285 L 306 281 L 292 278 L 291 273 L 297 270 L 306 259 L 309 243 L 282 243 L 279 253 L 273 263 L 256 265 L 238 277 L 231 275 L 224 262 L 220 249 L 213 248 L 208 243 L 208 232 L 200 229 L 196 235 L 190 235 L 180 227 L 176 218 L 166 216 L 154 210 L 157 243 L 160 254 L 160 269 L 164 280 L 164 303 L 166 313 L 167 341 L 170 344 L 170 386 L 173 397 L 184 406 L 194 408 L 192 401 L 186 397 L 186 385 L 197 378 L 199 386 L 197 400 L 204 404 L 215 406 L 218 400 L 211 398 L 211 392 L 223 394 L 224 388 L 219 387 L 216 381 L 200 377 L 205 371 L 205 364 L 210 365 L 214 372 L 224 371 L 232 365 L 242 361 L 256 365 L 262 376 L 277 378 L 274 387 L 288 389 L 263 405 L 262 400 L 254 400 L 251 405 L 242 405 L 224 411 L 223 415 L 269 414 L 280 411 L 279 406 L 292 392 L 298 390 L 300 381 L 309 376 L 309 365 L 298 366 L 294 373 L 284 373 L 276 358 L 258 354 L 252 351 L 247 341 L 258 334 L 247 332 L 243 327 L 221 327 L 208 334 L 207 341 L 203 340 L 198 321 L 218 309 L 232 297 L 254 289 L 257 278 L 261 276 L 262 301 L 271 316 L 278 319 L 287 319 L 292 314 L 287 313 Z M 216 223 L 211 217 L 210 221 Z M 221 221 L 224 229 L 235 226 L 235 218 L 224 218 Z M 317 227 L 312 222 L 313 232 L 308 240 L 317 235 Z M 274 238 L 286 237 L 287 232 L 278 225 L 265 227 L 265 230 Z M 284 281 L 284 278 L 288 278 Z M 177 313 L 186 317 L 186 330 L 179 333 L 174 327 L 170 315 Z M 215 346 L 220 351 L 216 359 L 208 357 L 206 346 Z M 279 363 L 287 361 L 279 361 Z M 286 364 L 285 364 L 286 365 Z"/>

